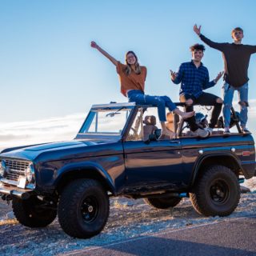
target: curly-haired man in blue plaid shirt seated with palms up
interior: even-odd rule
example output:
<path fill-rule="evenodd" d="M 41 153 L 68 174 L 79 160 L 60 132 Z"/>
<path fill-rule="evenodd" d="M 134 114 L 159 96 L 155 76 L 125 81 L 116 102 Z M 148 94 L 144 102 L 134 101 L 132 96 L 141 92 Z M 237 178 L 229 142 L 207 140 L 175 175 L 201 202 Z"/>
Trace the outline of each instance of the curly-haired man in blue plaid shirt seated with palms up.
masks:
<path fill-rule="evenodd" d="M 212 134 L 214 126 L 218 122 L 218 116 L 222 110 L 222 98 L 205 93 L 203 90 L 215 86 L 223 72 L 218 73 L 213 81 L 209 81 L 209 72 L 201 62 L 205 46 L 195 44 L 190 47 L 190 50 L 192 52 L 191 62 L 182 63 L 177 73 L 170 70 L 171 80 L 175 84 L 181 83 L 180 101 L 186 102 L 186 112 L 193 111 L 194 105 L 214 106 L 209 127 L 205 130 L 198 126 L 194 116 L 186 120 L 191 131 L 199 137 L 205 138 Z"/>

